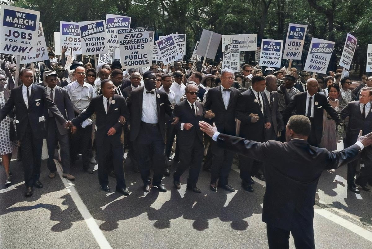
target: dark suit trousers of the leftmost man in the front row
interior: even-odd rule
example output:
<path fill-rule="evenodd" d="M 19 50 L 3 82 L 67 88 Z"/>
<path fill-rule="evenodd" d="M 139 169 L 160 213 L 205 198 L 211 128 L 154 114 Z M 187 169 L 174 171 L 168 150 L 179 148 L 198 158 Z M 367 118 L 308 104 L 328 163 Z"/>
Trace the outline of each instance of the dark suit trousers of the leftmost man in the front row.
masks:
<path fill-rule="evenodd" d="M 44 125 L 44 124 L 43 124 Z M 25 176 L 26 187 L 31 187 L 33 182 L 38 181 L 40 177 L 41 151 L 43 148 L 43 138 L 35 138 L 32 128 L 28 122 L 25 134 L 21 142 L 22 166 Z"/>

